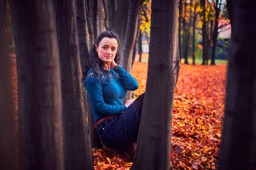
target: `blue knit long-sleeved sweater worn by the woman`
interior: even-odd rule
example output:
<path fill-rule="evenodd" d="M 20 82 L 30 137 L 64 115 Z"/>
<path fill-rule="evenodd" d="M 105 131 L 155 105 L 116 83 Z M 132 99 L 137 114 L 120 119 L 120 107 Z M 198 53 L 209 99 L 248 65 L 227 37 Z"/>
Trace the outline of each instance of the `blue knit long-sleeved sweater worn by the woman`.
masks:
<path fill-rule="evenodd" d="M 111 68 L 109 78 L 101 74 L 98 78 L 92 69 L 89 69 L 84 87 L 88 92 L 95 122 L 109 115 L 116 115 L 126 109 L 122 101 L 127 90 L 138 89 L 137 81 L 122 67 L 116 72 Z"/>

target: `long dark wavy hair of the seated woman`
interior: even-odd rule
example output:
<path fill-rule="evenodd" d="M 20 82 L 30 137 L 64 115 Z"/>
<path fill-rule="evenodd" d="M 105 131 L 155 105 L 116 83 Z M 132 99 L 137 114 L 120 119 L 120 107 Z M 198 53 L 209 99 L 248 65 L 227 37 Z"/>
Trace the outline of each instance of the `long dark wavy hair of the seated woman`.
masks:
<path fill-rule="evenodd" d="M 86 74 L 90 68 L 92 69 L 93 73 L 97 77 L 101 76 L 102 74 L 105 74 L 108 77 L 108 70 L 104 69 L 104 64 L 103 64 L 102 60 L 99 59 L 98 53 L 96 52 L 96 49 L 95 49 L 95 45 L 99 46 L 100 41 L 105 37 L 115 38 L 117 43 L 119 44 L 118 36 L 115 32 L 113 32 L 113 31 L 101 32 L 97 38 L 97 41 L 93 44 L 92 49 L 90 50 L 90 53 L 89 53 L 90 64 L 86 68 L 84 77 L 86 76 Z M 119 52 L 117 49 L 115 62 L 117 64 L 119 64 L 119 61 L 120 61 L 120 55 L 119 55 Z"/>

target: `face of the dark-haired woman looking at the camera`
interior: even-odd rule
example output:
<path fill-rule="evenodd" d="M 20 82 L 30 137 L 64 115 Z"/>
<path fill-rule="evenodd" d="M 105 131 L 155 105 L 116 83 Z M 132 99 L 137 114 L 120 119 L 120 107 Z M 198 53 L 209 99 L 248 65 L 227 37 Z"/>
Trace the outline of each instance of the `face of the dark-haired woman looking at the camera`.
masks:
<path fill-rule="evenodd" d="M 104 37 L 99 42 L 99 46 L 95 45 L 95 50 L 98 53 L 99 59 L 104 63 L 111 63 L 115 57 L 118 48 L 118 43 L 115 38 Z"/>

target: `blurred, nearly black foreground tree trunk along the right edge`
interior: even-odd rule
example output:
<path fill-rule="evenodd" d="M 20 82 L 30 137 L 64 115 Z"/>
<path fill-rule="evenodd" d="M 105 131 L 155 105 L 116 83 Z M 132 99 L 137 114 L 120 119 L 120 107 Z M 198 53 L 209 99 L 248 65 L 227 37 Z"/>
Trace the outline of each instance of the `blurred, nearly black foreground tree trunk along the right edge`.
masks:
<path fill-rule="evenodd" d="M 234 1 L 218 169 L 256 169 L 256 1 Z"/>

